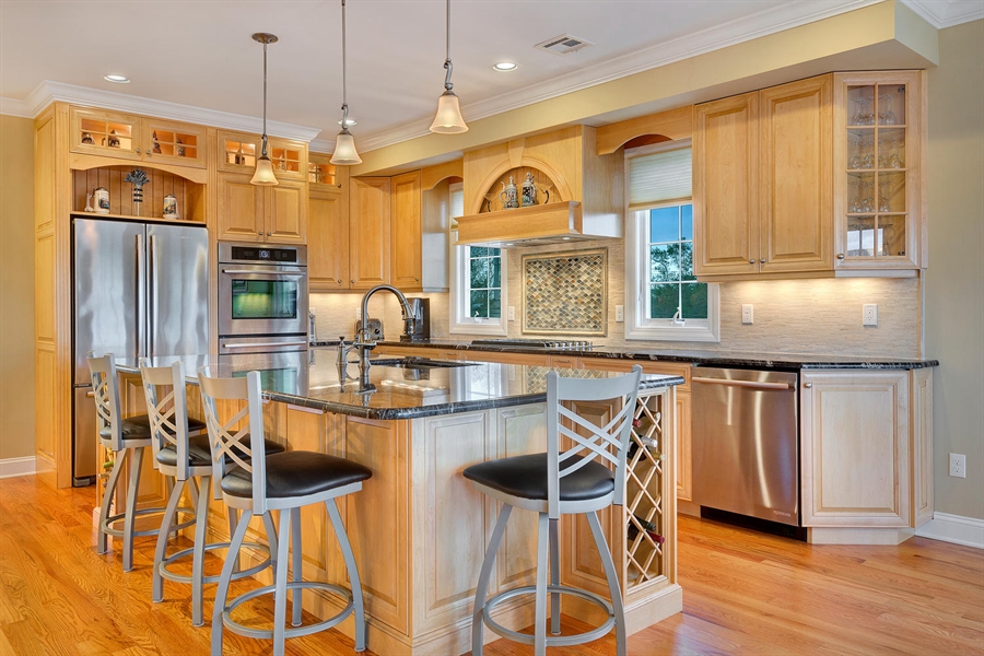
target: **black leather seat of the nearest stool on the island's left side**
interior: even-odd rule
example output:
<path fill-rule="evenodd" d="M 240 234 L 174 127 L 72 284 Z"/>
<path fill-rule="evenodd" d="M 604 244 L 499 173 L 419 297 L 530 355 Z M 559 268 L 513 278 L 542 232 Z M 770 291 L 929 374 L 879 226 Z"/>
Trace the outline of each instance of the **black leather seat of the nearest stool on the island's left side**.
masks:
<path fill-rule="evenodd" d="M 372 478 L 368 467 L 315 452 L 284 452 L 267 457 L 267 496 L 285 499 L 317 494 Z M 253 472 L 233 467 L 222 479 L 222 491 L 253 496 Z"/>

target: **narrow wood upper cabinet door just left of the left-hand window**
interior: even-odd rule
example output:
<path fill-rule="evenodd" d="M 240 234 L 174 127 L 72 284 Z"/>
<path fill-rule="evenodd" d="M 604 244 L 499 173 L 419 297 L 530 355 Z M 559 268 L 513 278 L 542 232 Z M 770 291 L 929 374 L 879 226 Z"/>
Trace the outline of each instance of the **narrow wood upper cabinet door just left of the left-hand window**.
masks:
<path fill-rule="evenodd" d="M 393 178 L 393 284 L 405 291 L 421 289 L 420 172 Z"/>

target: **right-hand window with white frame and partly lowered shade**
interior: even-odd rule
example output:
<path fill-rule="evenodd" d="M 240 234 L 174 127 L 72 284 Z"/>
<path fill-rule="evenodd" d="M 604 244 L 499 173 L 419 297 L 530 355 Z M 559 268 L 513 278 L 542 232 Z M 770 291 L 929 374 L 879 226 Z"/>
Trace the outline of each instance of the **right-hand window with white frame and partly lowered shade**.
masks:
<path fill-rule="evenodd" d="M 690 143 L 625 156 L 625 338 L 719 341 L 718 285 L 693 273 Z"/>

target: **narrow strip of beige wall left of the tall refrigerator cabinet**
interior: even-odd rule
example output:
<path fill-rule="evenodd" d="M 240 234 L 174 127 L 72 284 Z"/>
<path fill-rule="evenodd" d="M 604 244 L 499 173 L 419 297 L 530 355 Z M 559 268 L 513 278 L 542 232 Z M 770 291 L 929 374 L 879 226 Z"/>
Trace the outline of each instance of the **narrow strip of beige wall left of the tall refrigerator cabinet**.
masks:
<path fill-rule="evenodd" d="M 34 455 L 34 121 L 0 116 L 0 460 Z"/>

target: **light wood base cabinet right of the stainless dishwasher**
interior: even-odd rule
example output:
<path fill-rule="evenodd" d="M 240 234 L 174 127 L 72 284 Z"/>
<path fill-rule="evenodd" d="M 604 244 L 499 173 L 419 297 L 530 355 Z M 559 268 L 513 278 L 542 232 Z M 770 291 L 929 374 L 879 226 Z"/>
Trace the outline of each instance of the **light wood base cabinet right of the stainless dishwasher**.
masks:
<path fill-rule="evenodd" d="M 811 541 L 897 542 L 932 517 L 930 372 L 804 372 L 803 525 L 817 529 Z M 848 530 L 822 530 L 834 527 Z M 909 530 L 879 538 L 877 528 Z"/>

